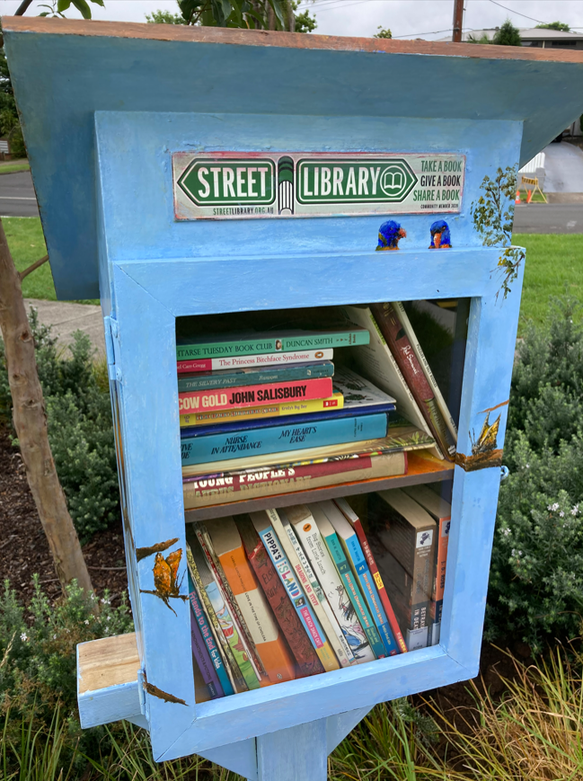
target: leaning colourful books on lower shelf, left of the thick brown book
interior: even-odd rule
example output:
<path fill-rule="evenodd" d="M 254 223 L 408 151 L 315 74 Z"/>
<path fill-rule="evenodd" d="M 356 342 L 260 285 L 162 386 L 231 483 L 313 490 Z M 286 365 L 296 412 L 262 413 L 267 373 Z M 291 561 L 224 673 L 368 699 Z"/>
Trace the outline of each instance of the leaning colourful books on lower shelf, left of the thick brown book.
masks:
<path fill-rule="evenodd" d="M 187 525 L 199 701 L 406 652 L 344 500 Z"/>

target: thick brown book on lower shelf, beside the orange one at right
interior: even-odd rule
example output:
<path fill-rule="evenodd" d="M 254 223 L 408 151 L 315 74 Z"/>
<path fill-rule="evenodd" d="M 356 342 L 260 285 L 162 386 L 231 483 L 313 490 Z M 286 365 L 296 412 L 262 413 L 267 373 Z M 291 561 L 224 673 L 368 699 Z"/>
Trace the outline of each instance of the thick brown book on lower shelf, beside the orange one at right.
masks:
<path fill-rule="evenodd" d="M 410 651 L 430 643 L 437 524 L 399 489 L 371 497 L 368 540 Z M 380 548 L 375 549 L 378 540 Z"/>

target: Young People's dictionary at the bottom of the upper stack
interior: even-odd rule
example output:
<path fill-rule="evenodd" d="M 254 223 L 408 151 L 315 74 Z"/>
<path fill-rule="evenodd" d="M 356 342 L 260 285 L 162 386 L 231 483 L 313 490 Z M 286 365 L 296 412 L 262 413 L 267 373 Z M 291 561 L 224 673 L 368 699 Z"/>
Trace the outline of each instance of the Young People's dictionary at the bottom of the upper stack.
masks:
<path fill-rule="evenodd" d="M 259 471 L 189 477 L 182 484 L 182 493 L 185 510 L 192 510 L 229 501 L 259 499 L 406 474 L 407 454 L 398 452 L 385 456 L 332 459 L 305 466 L 272 466 Z"/>

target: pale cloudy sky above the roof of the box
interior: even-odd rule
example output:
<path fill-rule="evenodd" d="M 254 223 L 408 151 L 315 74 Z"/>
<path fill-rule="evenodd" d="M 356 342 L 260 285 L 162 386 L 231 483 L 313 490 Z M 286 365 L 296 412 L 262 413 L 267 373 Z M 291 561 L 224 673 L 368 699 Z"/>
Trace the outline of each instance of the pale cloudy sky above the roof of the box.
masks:
<path fill-rule="evenodd" d="M 0 0 L 0 13 L 10 15 L 18 5 L 19 0 Z M 36 0 L 26 15 L 44 10 L 39 6 Z M 380 25 L 389 27 L 393 37 L 431 40 L 451 34 L 454 0 L 304 0 L 305 6 L 315 14 L 316 32 L 322 35 L 371 36 Z M 105 8 L 91 7 L 94 19 L 116 22 L 145 22 L 145 14 L 157 8 L 178 10 L 175 0 L 105 0 Z M 71 6 L 66 16 L 80 14 Z M 496 27 L 507 17 L 517 27 L 559 20 L 583 32 L 581 0 L 465 0 L 464 30 Z"/>

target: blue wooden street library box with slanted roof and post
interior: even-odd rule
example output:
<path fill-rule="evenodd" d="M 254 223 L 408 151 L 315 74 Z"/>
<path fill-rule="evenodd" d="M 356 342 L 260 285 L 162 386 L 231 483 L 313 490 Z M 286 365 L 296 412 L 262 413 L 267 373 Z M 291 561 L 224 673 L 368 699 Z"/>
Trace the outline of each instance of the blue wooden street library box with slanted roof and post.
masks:
<path fill-rule="evenodd" d="M 516 172 L 583 111 L 583 54 L 3 26 L 57 296 L 100 297 L 108 346 L 136 634 L 80 647 L 82 723 L 137 723 L 158 760 L 198 753 L 253 781 L 323 781 L 327 755 L 375 703 L 478 672 L 525 265 L 510 246 Z M 316 182 L 318 165 L 329 173 Z M 389 220 L 395 251 L 375 252 Z M 437 247 L 439 220 L 449 241 Z M 440 643 L 197 703 L 189 604 L 152 594 L 154 552 L 185 548 L 176 318 L 460 298 L 471 306 L 455 467 L 186 519 L 454 475 Z M 500 422 L 484 462 L 472 432 L 489 414 Z M 179 582 L 185 569 L 182 556 Z"/>

